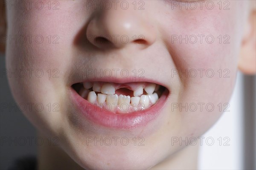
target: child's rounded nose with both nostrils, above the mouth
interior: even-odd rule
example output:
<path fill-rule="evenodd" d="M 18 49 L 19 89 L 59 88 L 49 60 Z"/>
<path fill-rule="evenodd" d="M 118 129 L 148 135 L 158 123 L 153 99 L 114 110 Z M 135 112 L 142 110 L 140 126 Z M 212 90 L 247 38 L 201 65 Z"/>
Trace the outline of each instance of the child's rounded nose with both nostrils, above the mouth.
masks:
<path fill-rule="evenodd" d="M 86 35 L 98 48 L 125 48 L 132 44 L 147 48 L 157 37 L 145 14 L 124 9 L 97 11 L 88 23 Z"/>

